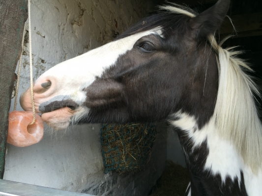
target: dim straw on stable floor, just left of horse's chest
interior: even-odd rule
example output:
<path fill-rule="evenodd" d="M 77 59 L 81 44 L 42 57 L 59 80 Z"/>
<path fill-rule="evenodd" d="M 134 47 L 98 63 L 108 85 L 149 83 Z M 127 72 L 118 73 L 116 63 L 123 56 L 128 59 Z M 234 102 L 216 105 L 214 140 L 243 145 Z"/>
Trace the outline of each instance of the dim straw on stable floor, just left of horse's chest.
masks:
<path fill-rule="evenodd" d="M 150 196 L 184 196 L 188 184 L 187 169 L 168 160 L 167 167 Z"/>

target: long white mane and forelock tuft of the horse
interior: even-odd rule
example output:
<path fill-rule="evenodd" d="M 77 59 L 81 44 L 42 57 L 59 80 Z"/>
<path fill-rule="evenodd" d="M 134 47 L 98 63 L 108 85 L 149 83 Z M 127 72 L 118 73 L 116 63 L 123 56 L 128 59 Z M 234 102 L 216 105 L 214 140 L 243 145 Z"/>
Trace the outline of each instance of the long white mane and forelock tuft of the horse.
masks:
<path fill-rule="evenodd" d="M 188 7 L 172 3 L 173 6 L 160 6 L 160 9 L 191 18 L 196 13 Z M 257 114 L 254 94 L 259 90 L 251 78 L 243 72 L 251 68 L 236 55 L 241 53 L 233 48 L 223 49 L 215 37 L 207 37 L 216 52 L 219 70 L 219 88 L 214 110 L 215 126 L 221 137 L 231 141 L 244 163 L 253 172 L 262 168 L 262 124 Z"/>

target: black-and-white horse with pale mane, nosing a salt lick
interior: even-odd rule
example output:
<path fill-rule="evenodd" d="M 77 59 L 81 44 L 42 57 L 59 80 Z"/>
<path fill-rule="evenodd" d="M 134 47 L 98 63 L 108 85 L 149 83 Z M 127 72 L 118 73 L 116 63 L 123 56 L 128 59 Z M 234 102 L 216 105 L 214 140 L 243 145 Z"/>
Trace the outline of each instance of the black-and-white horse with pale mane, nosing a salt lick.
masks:
<path fill-rule="evenodd" d="M 55 129 L 169 121 L 190 174 L 186 196 L 261 195 L 259 91 L 239 51 L 214 36 L 229 6 L 218 0 L 200 14 L 160 6 L 116 40 L 43 73 L 36 112 Z M 29 90 L 20 103 L 31 110 Z"/>

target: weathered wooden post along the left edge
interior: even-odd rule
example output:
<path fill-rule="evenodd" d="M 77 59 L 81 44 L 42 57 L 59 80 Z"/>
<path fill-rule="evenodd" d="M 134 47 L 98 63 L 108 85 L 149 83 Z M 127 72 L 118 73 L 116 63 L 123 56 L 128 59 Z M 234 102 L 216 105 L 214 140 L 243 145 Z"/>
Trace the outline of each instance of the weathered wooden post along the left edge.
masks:
<path fill-rule="evenodd" d="M 0 0 L 0 178 L 3 178 L 14 72 L 28 18 L 26 0 Z"/>

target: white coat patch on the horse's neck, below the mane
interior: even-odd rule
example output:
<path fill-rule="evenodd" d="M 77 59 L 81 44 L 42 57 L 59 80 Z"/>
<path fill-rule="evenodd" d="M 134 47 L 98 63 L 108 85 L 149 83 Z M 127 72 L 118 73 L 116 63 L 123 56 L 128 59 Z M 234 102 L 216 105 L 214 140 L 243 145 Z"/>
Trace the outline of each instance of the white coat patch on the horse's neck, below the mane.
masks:
<path fill-rule="evenodd" d="M 180 112 L 175 114 L 175 117 L 179 120 L 170 121 L 170 123 L 188 134 L 189 138 L 194 141 L 193 149 L 200 146 L 205 140 L 207 141 L 210 153 L 205 161 L 204 170 L 211 171 L 214 175 L 220 174 L 221 186 L 225 186 L 226 177 L 230 177 L 232 180 L 237 179 L 240 184 L 240 171 L 242 171 L 248 196 L 261 196 L 262 186 L 260 182 L 262 182 L 262 170 L 260 169 L 256 175 L 252 173 L 249 167 L 244 165 L 234 146 L 217 134 L 213 118 L 199 130 L 196 129 L 197 123 L 194 117 L 181 114 Z M 198 157 L 195 158 L 197 159 Z M 191 191 L 188 196 L 191 196 Z"/>

